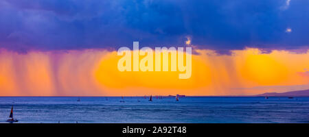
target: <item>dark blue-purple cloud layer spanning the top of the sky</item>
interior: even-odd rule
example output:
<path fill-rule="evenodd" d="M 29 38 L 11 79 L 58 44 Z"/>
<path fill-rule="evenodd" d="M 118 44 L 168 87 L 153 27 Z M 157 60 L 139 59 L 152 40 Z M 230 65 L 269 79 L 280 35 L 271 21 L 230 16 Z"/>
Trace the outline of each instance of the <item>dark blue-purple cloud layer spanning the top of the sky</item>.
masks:
<path fill-rule="evenodd" d="M 308 0 L 3 0 L 0 47 L 183 46 L 190 36 L 192 45 L 223 52 L 297 49 L 309 45 L 308 7 Z"/>

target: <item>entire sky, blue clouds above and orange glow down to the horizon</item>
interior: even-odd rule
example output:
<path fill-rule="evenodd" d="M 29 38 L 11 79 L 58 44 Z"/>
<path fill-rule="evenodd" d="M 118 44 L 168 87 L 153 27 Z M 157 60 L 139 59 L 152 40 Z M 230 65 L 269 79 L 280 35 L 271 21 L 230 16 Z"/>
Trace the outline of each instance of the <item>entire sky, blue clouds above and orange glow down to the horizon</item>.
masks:
<path fill-rule="evenodd" d="M 307 0 L 3 0 L 0 96 L 255 95 L 309 88 Z M 117 49 L 192 47 L 192 77 Z"/>

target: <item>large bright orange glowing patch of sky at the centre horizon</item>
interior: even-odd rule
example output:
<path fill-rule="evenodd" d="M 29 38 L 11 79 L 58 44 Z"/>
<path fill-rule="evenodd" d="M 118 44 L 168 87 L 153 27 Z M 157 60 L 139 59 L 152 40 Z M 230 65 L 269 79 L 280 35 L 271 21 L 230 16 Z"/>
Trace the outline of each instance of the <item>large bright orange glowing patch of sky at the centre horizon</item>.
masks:
<path fill-rule="evenodd" d="M 117 69 L 120 58 L 122 56 L 118 56 L 115 51 L 109 53 L 102 58 L 94 72 L 98 84 L 108 90 L 115 90 L 117 95 L 175 94 L 170 90 L 179 90 L 183 94 L 191 90 L 192 95 L 202 94 L 201 90 L 196 89 L 203 88 L 211 82 L 207 64 L 198 58 L 198 55 L 192 55 L 192 76 L 189 79 L 179 79 L 179 73 L 183 73 L 180 71 L 121 72 Z"/>

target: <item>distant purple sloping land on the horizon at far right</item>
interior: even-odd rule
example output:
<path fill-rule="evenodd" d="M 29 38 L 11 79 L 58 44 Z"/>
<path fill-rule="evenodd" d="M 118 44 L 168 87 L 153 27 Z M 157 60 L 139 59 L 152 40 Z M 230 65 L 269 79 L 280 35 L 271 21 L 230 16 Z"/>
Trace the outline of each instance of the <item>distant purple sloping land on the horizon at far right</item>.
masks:
<path fill-rule="evenodd" d="M 255 95 L 258 97 L 309 97 L 309 89 L 308 90 L 297 90 L 290 92 L 265 92 L 264 94 Z"/>

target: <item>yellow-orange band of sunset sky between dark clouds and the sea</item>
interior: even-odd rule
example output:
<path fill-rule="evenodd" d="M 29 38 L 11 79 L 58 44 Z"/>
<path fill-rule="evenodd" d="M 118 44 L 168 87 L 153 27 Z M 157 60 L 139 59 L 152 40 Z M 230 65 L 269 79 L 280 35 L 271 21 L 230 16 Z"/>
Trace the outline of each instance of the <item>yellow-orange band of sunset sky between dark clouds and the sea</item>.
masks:
<path fill-rule="evenodd" d="M 0 96 L 255 95 L 309 89 L 309 52 L 196 50 L 192 76 L 120 72 L 116 51 L 0 50 Z M 142 57 L 140 57 L 142 58 Z"/>

